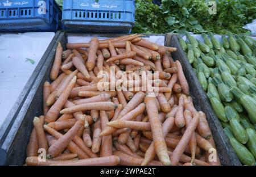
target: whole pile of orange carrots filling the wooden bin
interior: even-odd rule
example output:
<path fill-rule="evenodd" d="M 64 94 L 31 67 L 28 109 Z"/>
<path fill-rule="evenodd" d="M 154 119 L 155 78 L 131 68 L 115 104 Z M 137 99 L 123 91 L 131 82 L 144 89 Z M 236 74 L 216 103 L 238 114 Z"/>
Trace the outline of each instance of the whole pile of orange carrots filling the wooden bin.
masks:
<path fill-rule="evenodd" d="M 93 37 L 67 50 L 59 43 L 26 165 L 220 165 L 205 114 L 193 106 L 182 66 L 171 57 L 175 50 L 137 34 Z M 129 75 L 121 86 L 139 89 L 100 90 L 99 83 L 109 88 L 119 79 L 112 67 L 151 75 L 146 90 Z"/>

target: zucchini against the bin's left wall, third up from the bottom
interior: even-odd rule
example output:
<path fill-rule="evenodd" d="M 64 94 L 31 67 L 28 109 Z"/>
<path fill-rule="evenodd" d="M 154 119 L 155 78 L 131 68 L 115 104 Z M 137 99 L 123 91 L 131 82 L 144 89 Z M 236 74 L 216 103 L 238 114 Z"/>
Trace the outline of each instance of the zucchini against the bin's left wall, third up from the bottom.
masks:
<path fill-rule="evenodd" d="M 210 100 L 210 104 L 212 105 L 212 108 L 213 108 L 214 112 L 216 113 L 218 119 L 220 119 L 224 123 L 227 123 L 228 119 L 225 115 L 225 109 L 224 109 L 223 104 L 220 102 L 220 100 L 215 98 L 210 92 L 207 93 L 207 96 Z"/>

